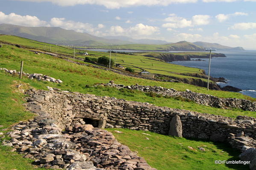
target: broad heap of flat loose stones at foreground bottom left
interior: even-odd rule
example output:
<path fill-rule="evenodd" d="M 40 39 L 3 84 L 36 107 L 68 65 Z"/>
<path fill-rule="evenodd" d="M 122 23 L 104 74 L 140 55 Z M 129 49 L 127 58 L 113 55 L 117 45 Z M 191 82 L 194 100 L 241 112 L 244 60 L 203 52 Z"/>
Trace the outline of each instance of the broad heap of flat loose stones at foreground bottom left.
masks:
<path fill-rule="evenodd" d="M 37 101 L 30 101 L 37 102 Z M 21 122 L 8 132 L 12 138 L 3 141 L 12 151 L 35 159 L 34 164 L 67 170 L 156 170 L 129 147 L 120 144 L 112 133 L 90 124 L 74 121 L 65 131 L 47 112 Z"/>

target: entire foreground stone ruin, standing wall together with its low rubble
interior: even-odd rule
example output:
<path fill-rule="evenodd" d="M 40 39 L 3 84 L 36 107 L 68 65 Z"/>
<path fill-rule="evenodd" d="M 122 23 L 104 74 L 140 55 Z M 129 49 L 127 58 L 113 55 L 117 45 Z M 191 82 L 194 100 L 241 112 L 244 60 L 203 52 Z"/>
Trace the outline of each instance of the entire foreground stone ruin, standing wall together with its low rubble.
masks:
<path fill-rule="evenodd" d="M 12 127 L 12 139 L 3 144 L 34 158 L 40 167 L 155 170 L 99 128 L 111 125 L 168 135 L 174 116 L 181 121 L 183 137 L 228 142 L 241 152 L 256 146 L 256 118 L 248 116 L 233 119 L 78 92 L 30 89 L 26 95 L 27 109 L 38 116 Z"/>

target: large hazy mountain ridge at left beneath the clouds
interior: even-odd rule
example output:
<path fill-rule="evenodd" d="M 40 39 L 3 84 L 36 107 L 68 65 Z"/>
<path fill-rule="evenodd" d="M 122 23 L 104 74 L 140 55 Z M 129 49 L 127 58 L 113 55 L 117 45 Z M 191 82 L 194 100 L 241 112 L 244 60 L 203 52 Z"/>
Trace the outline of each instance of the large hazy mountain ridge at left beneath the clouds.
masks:
<path fill-rule="evenodd" d="M 0 24 L 0 34 L 16 35 L 42 42 L 59 43 L 62 45 L 106 45 L 124 44 L 121 40 L 108 40 L 88 33 L 79 33 L 59 27 L 26 27 L 11 24 Z"/>

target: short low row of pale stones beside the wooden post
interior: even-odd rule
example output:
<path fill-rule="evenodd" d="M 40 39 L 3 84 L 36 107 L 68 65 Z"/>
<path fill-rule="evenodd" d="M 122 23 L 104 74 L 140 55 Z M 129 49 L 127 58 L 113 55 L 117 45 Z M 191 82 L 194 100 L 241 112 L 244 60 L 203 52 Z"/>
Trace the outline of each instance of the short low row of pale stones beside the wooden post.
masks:
<path fill-rule="evenodd" d="M 19 75 L 20 72 L 17 72 L 16 70 L 6 69 L 6 68 L 0 68 L 0 70 L 4 70 L 5 72 L 11 74 L 11 75 Z M 23 72 L 22 75 L 30 78 L 30 79 L 37 79 L 38 81 L 51 81 L 53 83 L 63 83 L 60 79 L 52 78 L 48 75 L 38 74 L 38 73 L 25 73 Z"/>

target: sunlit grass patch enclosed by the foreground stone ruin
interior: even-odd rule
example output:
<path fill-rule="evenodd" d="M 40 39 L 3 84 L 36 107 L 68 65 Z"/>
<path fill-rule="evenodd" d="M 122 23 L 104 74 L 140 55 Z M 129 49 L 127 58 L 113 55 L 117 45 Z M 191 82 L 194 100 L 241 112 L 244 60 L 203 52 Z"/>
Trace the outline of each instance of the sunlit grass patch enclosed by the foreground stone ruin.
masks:
<path fill-rule="evenodd" d="M 239 151 L 225 143 L 177 138 L 152 132 L 107 129 L 119 142 L 137 151 L 151 167 L 158 170 L 248 170 L 247 165 L 215 164 L 215 160 L 239 160 Z M 123 133 L 115 133 L 114 130 Z M 147 133 L 149 135 L 144 135 Z M 146 138 L 149 138 L 147 140 Z M 188 146 L 194 150 L 188 149 Z M 205 148 L 205 152 L 197 147 Z"/>

